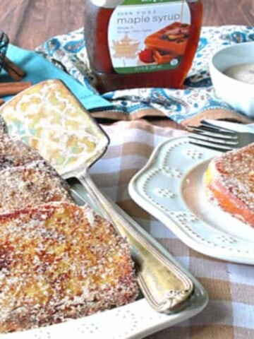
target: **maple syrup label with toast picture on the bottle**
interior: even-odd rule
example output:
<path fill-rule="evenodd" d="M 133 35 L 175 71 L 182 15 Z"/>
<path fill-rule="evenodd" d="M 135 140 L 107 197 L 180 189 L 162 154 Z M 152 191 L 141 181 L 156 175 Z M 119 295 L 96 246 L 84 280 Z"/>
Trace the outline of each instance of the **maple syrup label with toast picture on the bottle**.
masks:
<path fill-rule="evenodd" d="M 185 0 L 124 0 L 109 20 L 116 73 L 176 69 L 186 50 L 191 13 Z"/>

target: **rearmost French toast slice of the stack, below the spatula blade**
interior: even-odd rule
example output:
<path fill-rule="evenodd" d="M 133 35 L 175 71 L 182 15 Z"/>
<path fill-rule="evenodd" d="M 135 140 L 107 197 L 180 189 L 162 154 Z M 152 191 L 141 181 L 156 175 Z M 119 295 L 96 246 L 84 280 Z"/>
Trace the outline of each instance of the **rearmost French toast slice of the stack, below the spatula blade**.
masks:
<path fill-rule="evenodd" d="M 37 152 L 25 145 L 22 141 L 16 141 L 7 134 L 0 137 L 0 171 L 8 167 L 22 166 L 35 160 L 44 160 Z"/>

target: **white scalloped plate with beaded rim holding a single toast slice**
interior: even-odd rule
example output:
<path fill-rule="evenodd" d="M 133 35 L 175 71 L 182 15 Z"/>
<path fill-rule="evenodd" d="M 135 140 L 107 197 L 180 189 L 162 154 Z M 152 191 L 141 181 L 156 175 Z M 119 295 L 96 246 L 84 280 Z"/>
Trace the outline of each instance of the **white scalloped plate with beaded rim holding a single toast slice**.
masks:
<path fill-rule="evenodd" d="M 226 261 L 254 264 L 254 228 L 205 198 L 202 174 L 219 152 L 171 138 L 152 153 L 128 189 L 133 200 L 192 249 Z"/>

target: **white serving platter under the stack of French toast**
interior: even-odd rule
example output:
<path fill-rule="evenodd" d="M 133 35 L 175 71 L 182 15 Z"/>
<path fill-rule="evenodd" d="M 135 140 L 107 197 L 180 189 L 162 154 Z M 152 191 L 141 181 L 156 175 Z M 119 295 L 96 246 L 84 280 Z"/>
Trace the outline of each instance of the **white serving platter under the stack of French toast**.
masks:
<path fill-rule="evenodd" d="M 78 191 L 80 196 L 97 209 L 83 186 L 80 184 L 72 184 L 73 189 Z M 99 210 L 97 210 L 99 213 Z M 193 280 L 194 292 L 190 297 L 188 306 L 182 311 L 175 314 L 160 314 L 156 312 L 147 301 L 142 298 L 131 304 L 122 307 L 116 307 L 109 311 L 85 316 L 80 319 L 69 320 L 52 326 L 35 328 L 29 331 L 13 332 L 4 335 L 0 334 L 1 339 L 59 339 L 59 338 L 75 338 L 75 339 L 141 339 L 160 331 L 164 328 L 176 325 L 181 321 L 195 316 L 200 313 L 207 304 L 207 292 L 202 285 L 196 280 L 191 273 L 181 266 L 164 247 L 157 242 L 145 230 L 140 230 L 143 236 L 149 242 L 154 244 L 159 251 L 169 260 L 179 266 L 181 270 Z"/>

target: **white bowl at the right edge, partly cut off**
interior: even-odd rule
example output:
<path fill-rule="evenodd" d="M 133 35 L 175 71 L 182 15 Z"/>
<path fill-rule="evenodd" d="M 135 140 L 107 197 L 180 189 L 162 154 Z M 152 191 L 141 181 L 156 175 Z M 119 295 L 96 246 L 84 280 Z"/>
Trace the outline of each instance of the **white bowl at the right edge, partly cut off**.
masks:
<path fill-rule="evenodd" d="M 254 41 L 224 47 L 210 61 L 210 76 L 217 97 L 233 109 L 254 117 L 254 84 L 244 83 L 224 74 L 238 64 L 254 64 Z"/>

